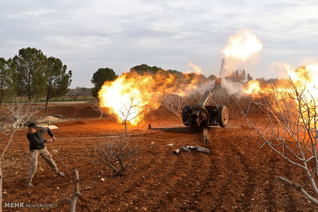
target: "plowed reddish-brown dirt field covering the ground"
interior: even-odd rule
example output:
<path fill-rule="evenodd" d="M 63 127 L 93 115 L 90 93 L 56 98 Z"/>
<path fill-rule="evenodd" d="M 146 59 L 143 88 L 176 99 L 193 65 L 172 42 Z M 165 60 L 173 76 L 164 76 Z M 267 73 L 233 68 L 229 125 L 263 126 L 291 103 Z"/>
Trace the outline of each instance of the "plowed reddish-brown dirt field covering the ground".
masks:
<path fill-rule="evenodd" d="M 277 179 L 286 177 L 313 195 L 304 171 L 267 146 L 259 149 L 257 140 L 261 138 L 252 129 L 210 132 L 210 143 L 204 144 L 202 133 L 148 130 L 149 123 L 156 128 L 182 126 L 180 118 L 158 109 L 146 115 L 142 125 L 129 126 L 127 134 L 140 143 L 142 152 L 126 176 L 120 178 L 112 177 L 111 169 L 104 164 L 91 163 L 84 145 L 93 150 L 95 143 L 109 139 L 94 137 L 121 134 L 122 126 L 98 118 L 89 104 L 52 105 L 41 116 L 54 114 L 78 119 L 55 123 L 59 129 L 52 131 L 57 140 L 46 144 L 65 177 L 55 175 L 39 157 L 34 187 L 26 187 L 29 142 L 26 129 L 17 131 L 2 160 L 4 211 L 69 211 L 70 204 L 61 199 L 73 195 L 74 168 L 78 169 L 82 193 L 76 211 L 318 211 L 304 196 Z M 266 120 L 257 112 L 254 116 L 259 122 Z M 229 125 L 248 126 L 244 119 L 233 115 Z M 1 141 L 2 148 L 5 143 Z M 173 155 L 181 145 L 200 145 L 211 153 Z M 58 149 L 56 154 L 53 149 Z M 57 205 L 5 207 L 11 202 Z"/>

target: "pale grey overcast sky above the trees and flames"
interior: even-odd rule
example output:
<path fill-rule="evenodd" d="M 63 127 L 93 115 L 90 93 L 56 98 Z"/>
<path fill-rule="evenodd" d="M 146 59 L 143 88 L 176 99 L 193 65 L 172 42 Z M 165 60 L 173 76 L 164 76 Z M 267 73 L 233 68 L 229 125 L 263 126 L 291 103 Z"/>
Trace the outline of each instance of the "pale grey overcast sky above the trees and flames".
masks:
<path fill-rule="evenodd" d="M 318 1 L 3 1 L 0 57 L 27 47 L 60 58 L 71 88 L 93 87 L 98 68 L 118 75 L 146 63 L 206 76 L 220 71 L 230 35 L 248 28 L 262 40 L 261 60 L 246 69 L 274 77 L 275 61 L 299 66 L 318 57 Z M 244 67 L 241 67 L 244 68 Z"/>

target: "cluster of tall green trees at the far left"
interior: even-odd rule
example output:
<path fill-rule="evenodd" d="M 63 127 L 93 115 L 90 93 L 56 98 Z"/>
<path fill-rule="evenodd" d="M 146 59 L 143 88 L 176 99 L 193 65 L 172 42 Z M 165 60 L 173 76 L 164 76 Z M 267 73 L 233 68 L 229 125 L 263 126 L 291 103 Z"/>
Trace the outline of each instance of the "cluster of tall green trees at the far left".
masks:
<path fill-rule="evenodd" d="M 72 82 L 72 71 L 59 58 L 47 57 L 36 48 L 20 49 L 18 55 L 0 58 L 0 104 L 6 98 L 65 96 Z"/>

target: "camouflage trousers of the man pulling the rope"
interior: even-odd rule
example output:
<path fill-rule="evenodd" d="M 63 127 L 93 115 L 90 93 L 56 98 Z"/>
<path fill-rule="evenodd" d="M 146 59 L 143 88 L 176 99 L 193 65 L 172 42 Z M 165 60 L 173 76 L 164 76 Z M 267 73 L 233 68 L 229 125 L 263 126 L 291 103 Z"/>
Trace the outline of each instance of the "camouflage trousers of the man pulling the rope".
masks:
<path fill-rule="evenodd" d="M 36 171 L 37 167 L 37 156 L 41 155 L 41 157 L 44 158 L 44 160 L 49 164 L 49 166 L 53 169 L 53 171 L 57 174 L 58 168 L 52 159 L 51 154 L 49 151 L 47 151 L 46 147 L 44 147 L 42 150 L 31 150 L 31 167 L 29 169 L 29 174 L 27 177 L 27 183 L 32 181 L 32 178 L 34 176 L 34 173 Z"/>

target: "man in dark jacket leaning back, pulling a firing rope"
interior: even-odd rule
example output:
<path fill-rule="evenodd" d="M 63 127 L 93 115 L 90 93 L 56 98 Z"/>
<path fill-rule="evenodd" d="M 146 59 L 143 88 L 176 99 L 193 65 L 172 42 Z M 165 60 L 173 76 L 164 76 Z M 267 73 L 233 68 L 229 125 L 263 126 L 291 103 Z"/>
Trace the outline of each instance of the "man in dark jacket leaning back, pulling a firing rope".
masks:
<path fill-rule="evenodd" d="M 31 155 L 31 167 L 29 170 L 29 174 L 27 177 L 27 186 L 33 187 L 31 181 L 34 176 L 34 173 L 36 171 L 37 167 L 37 156 L 41 155 L 44 160 L 49 164 L 49 166 L 53 169 L 53 171 L 58 174 L 60 177 L 64 177 L 64 173 L 61 171 L 58 171 L 58 168 L 52 159 L 52 156 L 50 155 L 49 151 L 46 149 L 46 146 L 44 143 L 52 142 L 56 138 L 53 136 L 52 131 L 50 128 L 39 128 L 36 126 L 35 123 L 30 123 L 28 125 L 28 133 L 27 138 L 30 141 L 30 155 Z M 52 137 L 48 140 L 43 139 L 43 133 L 48 132 L 48 134 Z"/>

